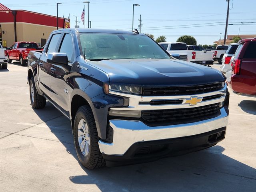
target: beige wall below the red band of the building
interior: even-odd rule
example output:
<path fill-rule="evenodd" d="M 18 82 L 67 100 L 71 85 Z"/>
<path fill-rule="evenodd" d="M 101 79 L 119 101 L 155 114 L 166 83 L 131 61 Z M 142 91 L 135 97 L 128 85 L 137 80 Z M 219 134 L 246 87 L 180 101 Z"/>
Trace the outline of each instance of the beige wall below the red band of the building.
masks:
<path fill-rule="evenodd" d="M 6 40 L 8 47 L 15 42 L 14 23 L 0 23 L 2 26 L 2 40 Z M 50 33 L 56 30 L 56 27 L 29 24 L 23 22 L 16 23 L 17 41 L 33 41 L 41 44 L 41 38 L 48 40 Z"/>

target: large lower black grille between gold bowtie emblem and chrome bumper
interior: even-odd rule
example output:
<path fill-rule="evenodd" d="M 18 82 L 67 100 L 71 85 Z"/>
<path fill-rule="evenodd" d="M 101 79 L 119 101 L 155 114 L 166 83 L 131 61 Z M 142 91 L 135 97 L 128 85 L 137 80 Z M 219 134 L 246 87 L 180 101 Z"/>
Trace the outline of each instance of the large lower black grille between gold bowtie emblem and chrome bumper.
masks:
<path fill-rule="evenodd" d="M 194 108 L 165 110 L 143 110 L 142 120 L 146 124 L 184 124 L 214 118 L 220 114 L 220 103 Z"/>

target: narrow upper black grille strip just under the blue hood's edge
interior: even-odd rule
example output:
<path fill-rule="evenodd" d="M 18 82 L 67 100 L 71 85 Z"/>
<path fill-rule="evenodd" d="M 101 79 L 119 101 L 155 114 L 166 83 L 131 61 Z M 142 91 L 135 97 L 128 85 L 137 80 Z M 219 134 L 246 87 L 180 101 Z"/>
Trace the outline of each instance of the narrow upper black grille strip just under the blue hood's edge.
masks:
<path fill-rule="evenodd" d="M 177 87 L 145 87 L 143 96 L 175 96 L 202 94 L 222 89 L 222 82 L 197 86 L 177 86 Z"/>

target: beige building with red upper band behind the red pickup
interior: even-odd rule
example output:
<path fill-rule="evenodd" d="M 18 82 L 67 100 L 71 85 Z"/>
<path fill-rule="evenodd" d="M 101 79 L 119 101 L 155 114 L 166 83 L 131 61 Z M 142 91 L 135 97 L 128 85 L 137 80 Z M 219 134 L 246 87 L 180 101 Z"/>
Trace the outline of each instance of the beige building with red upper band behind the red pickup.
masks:
<path fill-rule="evenodd" d="M 33 41 L 44 46 L 53 30 L 57 17 L 26 11 L 10 10 L 0 4 L 0 43 L 10 47 L 14 42 Z M 70 20 L 58 18 L 58 28 L 70 28 Z"/>

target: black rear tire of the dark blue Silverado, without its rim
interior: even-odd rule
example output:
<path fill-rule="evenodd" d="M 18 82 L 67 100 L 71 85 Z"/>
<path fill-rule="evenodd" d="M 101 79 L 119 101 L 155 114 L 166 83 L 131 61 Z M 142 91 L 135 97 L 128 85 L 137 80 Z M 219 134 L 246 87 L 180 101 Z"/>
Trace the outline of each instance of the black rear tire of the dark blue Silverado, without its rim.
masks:
<path fill-rule="evenodd" d="M 31 92 L 32 86 L 33 86 L 33 90 L 34 90 L 34 99 L 32 99 L 32 97 L 33 97 L 32 92 Z M 32 108 L 34 108 L 34 109 L 44 108 L 44 106 L 46 104 L 46 99 L 37 93 L 35 81 L 34 81 L 33 77 L 30 78 L 30 81 L 29 81 L 29 94 L 30 94 L 30 102 L 31 102 Z"/>

